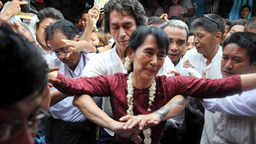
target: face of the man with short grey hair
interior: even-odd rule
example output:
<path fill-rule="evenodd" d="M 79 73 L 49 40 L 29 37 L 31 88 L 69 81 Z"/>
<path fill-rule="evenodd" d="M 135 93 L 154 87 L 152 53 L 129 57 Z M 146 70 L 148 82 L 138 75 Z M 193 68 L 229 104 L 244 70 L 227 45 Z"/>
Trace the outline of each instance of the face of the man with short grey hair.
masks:
<path fill-rule="evenodd" d="M 187 32 L 186 30 L 171 26 L 165 27 L 164 31 L 170 39 L 168 57 L 176 66 L 185 53 Z"/>

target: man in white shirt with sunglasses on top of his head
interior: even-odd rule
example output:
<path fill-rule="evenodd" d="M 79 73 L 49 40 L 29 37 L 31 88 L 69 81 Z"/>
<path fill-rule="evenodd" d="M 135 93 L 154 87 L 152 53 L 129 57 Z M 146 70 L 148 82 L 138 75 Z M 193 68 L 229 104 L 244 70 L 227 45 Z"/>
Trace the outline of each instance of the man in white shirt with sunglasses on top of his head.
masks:
<path fill-rule="evenodd" d="M 202 70 L 205 70 L 206 78 L 221 78 L 220 61 L 222 48 L 219 46 L 219 43 L 225 32 L 224 19 L 215 14 L 208 14 L 203 18 L 196 19 L 192 26 L 194 27 L 194 43 L 196 48 L 187 51 L 183 59 L 189 60 L 201 75 Z M 211 118 L 213 118 L 212 113 L 205 110 L 202 139 L 206 137 L 207 129 L 211 128 L 211 123 L 209 123 Z M 200 133 L 198 132 L 191 133 L 186 138 L 189 140 L 187 142 L 198 143 L 198 136 L 200 139 Z"/>

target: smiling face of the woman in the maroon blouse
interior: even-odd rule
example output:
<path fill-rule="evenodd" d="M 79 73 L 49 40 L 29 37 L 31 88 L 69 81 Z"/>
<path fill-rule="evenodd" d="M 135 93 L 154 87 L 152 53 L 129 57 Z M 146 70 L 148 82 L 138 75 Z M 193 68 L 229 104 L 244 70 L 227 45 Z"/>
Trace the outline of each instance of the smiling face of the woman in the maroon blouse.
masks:
<path fill-rule="evenodd" d="M 152 35 L 148 35 L 135 52 L 130 48 L 130 54 L 127 53 L 134 63 L 134 74 L 144 81 L 150 81 L 157 75 L 166 55 L 164 50 L 158 49 L 155 37 Z"/>

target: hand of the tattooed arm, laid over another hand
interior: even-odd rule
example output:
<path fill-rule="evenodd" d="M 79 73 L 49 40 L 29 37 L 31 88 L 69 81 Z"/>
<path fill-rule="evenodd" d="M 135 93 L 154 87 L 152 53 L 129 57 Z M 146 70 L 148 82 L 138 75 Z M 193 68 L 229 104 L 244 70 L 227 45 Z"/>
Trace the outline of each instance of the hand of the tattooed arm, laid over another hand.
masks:
<path fill-rule="evenodd" d="M 136 116 L 125 115 L 121 117 L 119 120 L 126 121 L 126 123 L 123 126 L 123 129 L 132 129 L 136 126 L 139 126 L 140 130 L 155 126 L 161 121 L 160 117 L 155 113 Z"/>

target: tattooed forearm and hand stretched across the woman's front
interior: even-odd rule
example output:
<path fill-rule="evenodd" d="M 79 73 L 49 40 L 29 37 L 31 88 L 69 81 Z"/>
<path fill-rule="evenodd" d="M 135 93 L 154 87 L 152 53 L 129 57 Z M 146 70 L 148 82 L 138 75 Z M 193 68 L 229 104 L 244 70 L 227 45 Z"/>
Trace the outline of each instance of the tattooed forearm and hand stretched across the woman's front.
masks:
<path fill-rule="evenodd" d="M 148 128 L 149 126 L 144 126 L 149 123 L 152 124 L 153 122 L 156 122 L 156 124 L 158 124 L 160 121 L 164 121 L 178 115 L 188 104 L 188 97 L 176 95 L 169 100 L 166 105 L 153 113 L 137 116 L 126 115 L 121 117 L 119 120 L 127 121 L 123 126 L 123 129 L 132 129 L 139 124 L 139 129 L 142 130 Z"/>

